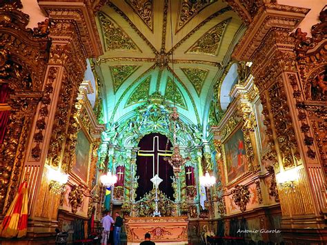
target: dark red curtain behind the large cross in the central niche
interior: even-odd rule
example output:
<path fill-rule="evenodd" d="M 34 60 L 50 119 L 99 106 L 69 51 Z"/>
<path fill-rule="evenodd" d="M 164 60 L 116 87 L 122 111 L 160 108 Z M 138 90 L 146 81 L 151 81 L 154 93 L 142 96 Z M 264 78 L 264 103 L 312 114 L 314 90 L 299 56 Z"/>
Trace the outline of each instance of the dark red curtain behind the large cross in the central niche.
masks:
<path fill-rule="evenodd" d="M 153 150 L 155 148 L 155 161 L 157 161 L 157 142 L 154 144 L 153 138 L 159 136 L 159 150 L 170 150 L 172 144 L 167 144 L 167 137 L 159 133 L 151 133 L 150 135 L 145 135 L 139 141 L 140 150 Z M 155 173 L 157 173 L 157 164 L 155 164 Z M 150 179 L 153 177 L 153 157 L 152 156 L 140 156 L 137 155 L 137 174 L 139 176 L 139 187 L 136 190 L 137 200 L 141 199 L 144 194 L 149 193 L 152 190 L 153 184 Z M 159 177 L 163 179 L 163 182 L 159 185 L 159 190 L 174 200 L 172 189 L 172 179 L 170 177 L 174 176 L 172 171 L 172 166 L 168 164 L 168 161 L 164 161 L 163 156 L 159 156 Z"/>

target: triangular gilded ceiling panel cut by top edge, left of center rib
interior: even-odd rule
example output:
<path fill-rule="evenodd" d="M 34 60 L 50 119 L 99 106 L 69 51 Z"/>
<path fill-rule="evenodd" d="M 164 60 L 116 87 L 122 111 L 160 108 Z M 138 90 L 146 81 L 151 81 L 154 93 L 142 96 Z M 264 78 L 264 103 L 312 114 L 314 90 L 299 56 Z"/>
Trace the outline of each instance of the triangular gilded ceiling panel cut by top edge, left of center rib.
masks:
<path fill-rule="evenodd" d="M 152 0 L 125 0 L 126 3 L 139 15 L 142 21 L 153 31 Z"/>

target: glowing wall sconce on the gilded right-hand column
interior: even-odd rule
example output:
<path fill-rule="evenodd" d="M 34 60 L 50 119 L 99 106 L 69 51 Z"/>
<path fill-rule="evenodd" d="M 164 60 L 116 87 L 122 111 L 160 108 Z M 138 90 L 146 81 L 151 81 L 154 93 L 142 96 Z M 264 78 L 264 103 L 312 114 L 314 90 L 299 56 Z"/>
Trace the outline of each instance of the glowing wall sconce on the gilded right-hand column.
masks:
<path fill-rule="evenodd" d="M 277 183 L 281 190 L 285 193 L 295 192 L 297 186 L 297 180 L 299 179 L 298 168 L 292 168 L 290 170 L 284 170 L 276 175 Z"/>

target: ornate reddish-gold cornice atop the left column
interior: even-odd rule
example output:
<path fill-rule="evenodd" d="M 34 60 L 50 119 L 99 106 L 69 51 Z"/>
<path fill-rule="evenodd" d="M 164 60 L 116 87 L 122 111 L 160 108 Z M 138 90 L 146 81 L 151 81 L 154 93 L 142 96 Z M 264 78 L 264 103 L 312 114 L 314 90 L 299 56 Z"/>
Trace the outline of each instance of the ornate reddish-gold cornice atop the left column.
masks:
<path fill-rule="evenodd" d="M 95 23 L 95 17 L 88 1 L 39 0 L 41 10 L 48 14 L 50 19 L 73 20 L 77 23 L 77 32 L 81 38 L 81 43 L 86 49 L 87 57 L 97 57 L 103 54 L 99 33 Z"/>

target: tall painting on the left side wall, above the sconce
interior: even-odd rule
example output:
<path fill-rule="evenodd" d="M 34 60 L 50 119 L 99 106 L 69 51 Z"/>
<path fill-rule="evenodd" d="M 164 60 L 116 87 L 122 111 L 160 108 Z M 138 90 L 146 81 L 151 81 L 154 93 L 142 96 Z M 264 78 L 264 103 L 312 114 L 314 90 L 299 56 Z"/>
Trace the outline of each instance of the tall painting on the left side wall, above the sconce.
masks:
<path fill-rule="evenodd" d="M 90 141 L 88 140 L 88 137 L 86 137 L 83 130 L 79 130 L 79 133 L 77 133 L 77 144 L 75 152 L 76 162 L 72 167 L 72 171 L 84 182 L 88 182 L 90 145 Z"/>

